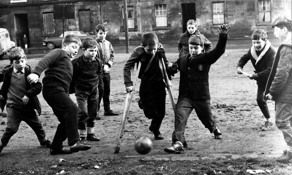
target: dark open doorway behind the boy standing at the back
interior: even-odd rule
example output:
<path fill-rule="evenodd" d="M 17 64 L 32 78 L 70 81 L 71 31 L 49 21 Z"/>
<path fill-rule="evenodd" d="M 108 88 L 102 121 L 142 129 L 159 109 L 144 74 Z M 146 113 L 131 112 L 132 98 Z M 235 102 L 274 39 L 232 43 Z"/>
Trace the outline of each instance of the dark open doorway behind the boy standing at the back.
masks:
<path fill-rule="evenodd" d="M 186 31 L 188 20 L 196 20 L 196 3 L 182 3 L 182 33 Z"/>

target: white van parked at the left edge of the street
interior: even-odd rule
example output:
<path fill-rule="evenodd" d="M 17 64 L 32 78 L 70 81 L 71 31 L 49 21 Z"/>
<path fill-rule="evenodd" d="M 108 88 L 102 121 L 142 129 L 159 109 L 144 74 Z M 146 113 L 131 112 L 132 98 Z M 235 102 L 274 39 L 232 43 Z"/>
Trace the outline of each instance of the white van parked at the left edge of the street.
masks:
<path fill-rule="evenodd" d="M 4 54 L 7 54 L 12 49 L 13 43 L 14 42 L 10 40 L 8 30 L 0 28 L 0 58 L 2 58 Z"/>

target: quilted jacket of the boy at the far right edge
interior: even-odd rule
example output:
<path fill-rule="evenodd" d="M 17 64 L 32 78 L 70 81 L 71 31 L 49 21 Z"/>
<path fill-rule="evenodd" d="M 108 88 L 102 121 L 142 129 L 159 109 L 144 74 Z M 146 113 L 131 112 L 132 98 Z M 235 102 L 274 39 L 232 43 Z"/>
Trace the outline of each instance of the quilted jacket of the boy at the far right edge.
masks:
<path fill-rule="evenodd" d="M 292 46 L 279 46 L 269 76 L 265 95 L 270 94 L 275 101 L 292 103 Z"/>

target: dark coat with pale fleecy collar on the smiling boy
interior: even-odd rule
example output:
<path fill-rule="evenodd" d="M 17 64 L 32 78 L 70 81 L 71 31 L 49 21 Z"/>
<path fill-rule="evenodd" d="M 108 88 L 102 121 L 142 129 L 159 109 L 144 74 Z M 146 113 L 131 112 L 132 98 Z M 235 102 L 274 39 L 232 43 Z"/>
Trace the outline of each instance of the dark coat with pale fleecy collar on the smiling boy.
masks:
<path fill-rule="evenodd" d="M 255 80 L 257 81 L 257 84 L 265 86 L 273 66 L 275 55 L 276 52 L 274 47 L 271 46 L 269 41 L 267 41 L 259 56 L 256 53 L 255 47 L 252 46 L 248 50 L 248 53 L 244 54 L 240 58 L 237 67 L 243 68 L 248 60 L 250 60 L 255 68 L 254 72 L 256 75 Z"/>

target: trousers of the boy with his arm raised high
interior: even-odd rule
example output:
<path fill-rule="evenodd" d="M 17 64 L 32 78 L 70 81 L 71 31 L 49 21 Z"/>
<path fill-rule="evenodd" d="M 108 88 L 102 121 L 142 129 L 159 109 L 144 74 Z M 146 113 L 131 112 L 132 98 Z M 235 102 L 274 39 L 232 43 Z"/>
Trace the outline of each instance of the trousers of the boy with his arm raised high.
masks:
<path fill-rule="evenodd" d="M 198 118 L 201 120 L 205 128 L 209 129 L 210 133 L 216 129 L 216 122 L 212 117 L 210 99 L 191 99 L 184 97 L 177 100 L 175 118 L 174 118 L 174 132 L 172 133 L 172 142 L 181 141 L 184 143 L 184 130 L 186 122 L 195 109 Z"/>

